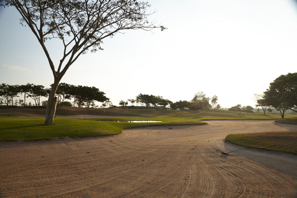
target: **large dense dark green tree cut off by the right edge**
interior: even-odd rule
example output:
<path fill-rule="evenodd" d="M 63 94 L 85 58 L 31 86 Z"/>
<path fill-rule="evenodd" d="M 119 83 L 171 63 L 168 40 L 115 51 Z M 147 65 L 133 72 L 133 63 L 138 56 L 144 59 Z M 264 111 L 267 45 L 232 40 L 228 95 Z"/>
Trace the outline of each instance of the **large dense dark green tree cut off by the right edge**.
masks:
<path fill-rule="evenodd" d="M 282 118 L 288 109 L 297 112 L 297 73 L 277 77 L 270 83 L 263 98 L 268 106 L 280 112 Z"/>

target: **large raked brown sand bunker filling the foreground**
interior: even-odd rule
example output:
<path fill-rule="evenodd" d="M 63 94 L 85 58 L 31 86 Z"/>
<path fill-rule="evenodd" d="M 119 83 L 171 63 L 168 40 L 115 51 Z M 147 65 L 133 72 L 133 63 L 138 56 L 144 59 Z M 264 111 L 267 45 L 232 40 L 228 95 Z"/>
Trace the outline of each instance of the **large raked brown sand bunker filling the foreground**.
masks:
<path fill-rule="evenodd" d="M 0 197 L 297 197 L 297 156 L 224 142 L 297 131 L 274 121 L 148 126 L 105 137 L 0 142 Z"/>

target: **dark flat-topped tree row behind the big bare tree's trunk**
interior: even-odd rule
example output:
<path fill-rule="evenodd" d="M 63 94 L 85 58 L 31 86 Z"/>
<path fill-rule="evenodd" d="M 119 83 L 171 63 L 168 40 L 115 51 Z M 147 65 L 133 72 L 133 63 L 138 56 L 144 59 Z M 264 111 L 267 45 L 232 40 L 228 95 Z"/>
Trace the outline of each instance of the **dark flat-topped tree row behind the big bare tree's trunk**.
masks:
<path fill-rule="evenodd" d="M 53 86 L 50 85 L 50 86 Z M 31 102 L 27 104 L 26 98 L 30 97 L 34 100 L 35 106 L 46 106 L 47 101 L 40 103 L 41 97 L 47 97 L 50 92 L 49 88 L 45 88 L 43 85 L 34 85 L 27 83 L 26 85 L 7 85 L 2 83 L 0 85 L 0 96 L 5 99 L 0 99 L 0 104 L 6 104 L 7 106 L 11 103 L 12 106 L 31 106 Z M 24 94 L 24 100 L 13 100 L 15 97 L 19 97 L 18 94 Z M 88 87 L 82 85 L 69 85 L 67 83 L 60 83 L 56 96 L 58 98 L 59 106 L 72 106 L 70 102 L 64 101 L 65 99 L 74 99 L 73 106 L 75 104 L 78 107 L 87 106 L 88 108 L 95 107 L 95 101 L 106 102 L 109 99 L 105 96 L 105 93 L 99 91 L 96 87 Z"/>

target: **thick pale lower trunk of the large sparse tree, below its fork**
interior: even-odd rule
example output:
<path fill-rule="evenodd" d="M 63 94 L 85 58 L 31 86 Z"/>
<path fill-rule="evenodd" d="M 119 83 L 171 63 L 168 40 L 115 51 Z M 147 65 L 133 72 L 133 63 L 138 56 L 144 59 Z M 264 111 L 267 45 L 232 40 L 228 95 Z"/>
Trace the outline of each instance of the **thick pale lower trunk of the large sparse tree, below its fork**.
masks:
<path fill-rule="evenodd" d="M 48 104 L 46 105 L 46 111 L 45 111 L 45 125 L 52 125 L 54 122 L 54 116 L 56 113 L 56 105 L 57 105 L 57 97 L 55 97 L 59 82 L 61 78 L 55 78 L 53 87 L 50 90 L 50 94 L 48 95 Z"/>

